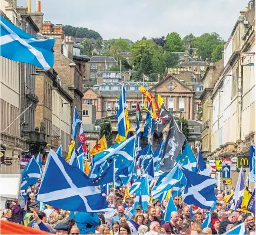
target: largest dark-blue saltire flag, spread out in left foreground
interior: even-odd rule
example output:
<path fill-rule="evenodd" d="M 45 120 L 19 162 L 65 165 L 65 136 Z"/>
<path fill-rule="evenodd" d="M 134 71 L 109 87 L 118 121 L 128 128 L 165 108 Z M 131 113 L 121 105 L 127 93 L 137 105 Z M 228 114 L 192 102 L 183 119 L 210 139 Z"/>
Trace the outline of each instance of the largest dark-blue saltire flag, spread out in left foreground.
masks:
<path fill-rule="evenodd" d="M 46 160 L 38 200 L 75 212 L 97 213 L 112 210 L 91 179 L 80 169 L 59 158 L 52 149 Z"/>

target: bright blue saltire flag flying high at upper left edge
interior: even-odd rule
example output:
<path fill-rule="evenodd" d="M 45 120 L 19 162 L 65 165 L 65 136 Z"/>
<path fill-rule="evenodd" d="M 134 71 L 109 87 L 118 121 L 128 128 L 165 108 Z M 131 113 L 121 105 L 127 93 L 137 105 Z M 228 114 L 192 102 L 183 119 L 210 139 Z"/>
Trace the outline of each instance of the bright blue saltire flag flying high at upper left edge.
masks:
<path fill-rule="evenodd" d="M 0 55 L 49 70 L 54 65 L 54 39 L 37 39 L 1 16 Z"/>

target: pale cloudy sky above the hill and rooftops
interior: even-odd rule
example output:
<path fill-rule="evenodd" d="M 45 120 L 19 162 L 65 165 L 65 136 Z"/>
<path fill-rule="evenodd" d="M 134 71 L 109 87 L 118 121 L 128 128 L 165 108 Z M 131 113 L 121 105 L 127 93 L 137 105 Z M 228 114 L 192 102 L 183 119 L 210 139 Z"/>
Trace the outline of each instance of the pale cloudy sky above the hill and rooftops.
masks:
<path fill-rule="evenodd" d="M 41 0 L 44 21 L 85 27 L 102 38 L 127 38 L 133 42 L 177 32 L 219 33 L 227 40 L 240 11 L 249 0 Z M 27 6 L 27 0 L 17 0 Z M 36 0 L 31 0 L 35 11 Z"/>

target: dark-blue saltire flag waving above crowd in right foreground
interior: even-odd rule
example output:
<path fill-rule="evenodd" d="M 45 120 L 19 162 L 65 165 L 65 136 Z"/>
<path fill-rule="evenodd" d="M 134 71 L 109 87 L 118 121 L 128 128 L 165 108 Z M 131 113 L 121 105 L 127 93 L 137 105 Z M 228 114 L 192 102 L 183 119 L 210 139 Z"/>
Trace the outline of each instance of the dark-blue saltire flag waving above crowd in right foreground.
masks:
<path fill-rule="evenodd" d="M 184 189 L 183 201 L 188 205 L 196 205 L 202 209 L 211 208 L 216 201 L 214 186 L 217 181 L 211 177 L 182 168 L 187 179 Z"/>

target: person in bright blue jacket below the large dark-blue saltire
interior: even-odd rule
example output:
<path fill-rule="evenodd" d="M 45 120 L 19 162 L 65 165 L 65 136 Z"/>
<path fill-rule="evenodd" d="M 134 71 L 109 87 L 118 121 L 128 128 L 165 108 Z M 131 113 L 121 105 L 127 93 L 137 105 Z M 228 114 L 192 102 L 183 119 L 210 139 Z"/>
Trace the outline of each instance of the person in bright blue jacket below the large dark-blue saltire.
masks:
<path fill-rule="evenodd" d="M 74 219 L 81 234 L 95 233 L 95 226 L 99 225 L 97 213 L 77 212 Z"/>

